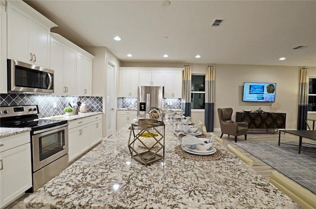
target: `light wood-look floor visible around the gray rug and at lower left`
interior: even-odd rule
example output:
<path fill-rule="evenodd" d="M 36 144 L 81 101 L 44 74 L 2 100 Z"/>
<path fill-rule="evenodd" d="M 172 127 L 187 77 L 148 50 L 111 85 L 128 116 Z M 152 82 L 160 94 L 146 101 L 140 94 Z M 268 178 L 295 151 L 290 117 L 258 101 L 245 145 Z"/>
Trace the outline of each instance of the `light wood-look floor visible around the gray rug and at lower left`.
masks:
<path fill-rule="evenodd" d="M 214 134 L 216 134 L 217 136 L 221 135 L 221 133 L 219 133 L 219 132 L 214 132 Z M 262 160 L 256 158 L 255 156 L 251 155 L 250 153 L 248 153 L 248 152 L 244 151 L 243 149 L 241 149 L 240 147 L 238 147 L 235 144 L 234 137 L 227 137 L 227 135 L 224 135 L 222 139 L 224 140 L 224 142 L 223 142 L 224 146 L 227 146 L 227 144 L 232 144 L 234 147 L 237 148 L 237 150 L 244 153 L 247 157 L 249 157 L 250 159 L 252 159 L 254 161 L 252 169 L 257 171 L 259 174 L 261 174 L 267 180 L 270 179 L 271 172 L 274 171 L 274 169 L 271 166 L 267 165 Z M 250 141 L 274 141 L 274 142 L 277 142 L 277 140 L 278 140 L 278 134 L 248 134 L 246 142 L 250 142 Z M 294 142 L 298 141 L 297 137 L 290 136 L 290 135 L 286 135 L 286 140 L 287 141 L 294 141 Z M 237 143 L 239 143 L 241 141 L 244 141 L 242 136 L 238 137 Z M 299 179 L 301 179 L 301 178 L 299 178 Z M 315 179 L 315 176 L 314 176 L 314 179 Z M 25 209 L 23 200 L 28 195 L 29 194 L 23 195 L 21 198 L 19 198 L 15 202 L 13 202 L 10 206 L 6 207 L 5 209 Z"/>

